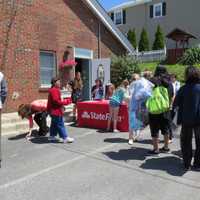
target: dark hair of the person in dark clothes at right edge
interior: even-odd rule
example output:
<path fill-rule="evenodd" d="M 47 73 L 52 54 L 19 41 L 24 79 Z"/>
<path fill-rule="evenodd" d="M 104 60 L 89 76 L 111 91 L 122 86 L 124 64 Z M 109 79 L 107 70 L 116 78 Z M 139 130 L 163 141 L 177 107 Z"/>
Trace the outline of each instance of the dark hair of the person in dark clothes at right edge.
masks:
<path fill-rule="evenodd" d="M 185 82 L 188 84 L 200 83 L 200 70 L 197 67 L 188 66 L 185 69 Z"/>

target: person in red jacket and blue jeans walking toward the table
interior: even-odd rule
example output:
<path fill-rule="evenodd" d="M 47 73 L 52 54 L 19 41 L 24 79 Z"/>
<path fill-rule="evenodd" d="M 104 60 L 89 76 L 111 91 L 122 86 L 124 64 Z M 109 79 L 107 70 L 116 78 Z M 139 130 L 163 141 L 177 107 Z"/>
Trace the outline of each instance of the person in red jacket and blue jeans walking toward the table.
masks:
<path fill-rule="evenodd" d="M 69 137 L 64 126 L 63 114 L 64 105 L 71 103 L 71 100 L 62 100 L 60 92 L 60 79 L 55 77 L 51 81 L 52 87 L 49 89 L 49 96 L 47 102 L 47 112 L 51 116 L 50 126 L 50 141 L 56 140 L 57 133 L 63 139 L 63 143 L 71 143 L 73 138 Z"/>

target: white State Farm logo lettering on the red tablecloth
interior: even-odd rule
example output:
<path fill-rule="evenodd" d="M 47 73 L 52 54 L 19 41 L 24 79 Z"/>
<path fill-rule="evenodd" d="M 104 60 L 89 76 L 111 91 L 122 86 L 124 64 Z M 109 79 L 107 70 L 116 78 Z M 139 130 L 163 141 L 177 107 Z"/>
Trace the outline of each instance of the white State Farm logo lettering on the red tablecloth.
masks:
<path fill-rule="evenodd" d="M 102 114 L 102 113 L 95 113 L 95 112 L 87 112 L 84 111 L 81 115 L 82 119 L 95 119 L 95 120 L 102 120 L 102 121 L 107 121 L 110 117 L 109 113 Z M 122 117 L 118 116 L 118 121 L 122 121 Z"/>

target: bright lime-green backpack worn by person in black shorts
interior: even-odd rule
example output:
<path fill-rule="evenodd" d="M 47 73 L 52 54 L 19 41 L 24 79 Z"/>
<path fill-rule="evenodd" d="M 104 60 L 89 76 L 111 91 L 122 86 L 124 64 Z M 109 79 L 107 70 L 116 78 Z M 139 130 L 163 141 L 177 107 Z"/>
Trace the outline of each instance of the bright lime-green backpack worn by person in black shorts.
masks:
<path fill-rule="evenodd" d="M 146 101 L 146 107 L 151 114 L 161 114 L 168 111 L 169 104 L 168 91 L 163 86 L 154 88 L 152 96 Z"/>

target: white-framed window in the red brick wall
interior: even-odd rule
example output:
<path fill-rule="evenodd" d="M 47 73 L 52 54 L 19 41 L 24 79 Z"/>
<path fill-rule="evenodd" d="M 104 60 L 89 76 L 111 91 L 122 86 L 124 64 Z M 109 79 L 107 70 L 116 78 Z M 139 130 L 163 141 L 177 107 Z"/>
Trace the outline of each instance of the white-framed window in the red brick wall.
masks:
<path fill-rule="evenodd" d="M 40 85 L 49 87 L 56 75 L 56 55 L 50 51 L 40 51 Z"/>

